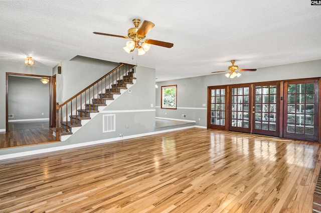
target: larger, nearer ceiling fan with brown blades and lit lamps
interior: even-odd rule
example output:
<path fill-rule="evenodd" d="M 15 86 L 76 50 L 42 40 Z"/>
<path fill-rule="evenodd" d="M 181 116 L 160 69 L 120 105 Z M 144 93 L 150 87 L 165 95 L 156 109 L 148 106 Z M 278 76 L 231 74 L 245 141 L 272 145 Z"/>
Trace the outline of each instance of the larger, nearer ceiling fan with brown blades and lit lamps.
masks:
<path fill-rule="evenodd" d="M 113 36 L 113 37 L 119 37 L 123 39 L 131 39 L 131 41 L 128 41 L 126 43 L 126 46 L 123 49 L 127 53 L 131 53 L 134 51 L 135 48 L 137 48 L 138 55 L 145 54 L 145 52 L 147 52 L 150 49 L 150 45 L 157 45 L 157 46 L 167 47 L 167 48 L 171 48 L 174 46 L 174 44 L 168 43 L 168 42 L 145 39 L 146 34 L 155 26 L 152 22 L 144 20 L 140 27 L 139 27 L 140 25 L 139 19 L 133 19 L 132 23 L 134 24 L 135 27 L 130 28 L 127 31 L 127 36 L 118 36 L 118 35 L 98 33 L 98 32 L 93 32 L 93 33 L 98 35 L 103 35 L 103 36 Z"/>

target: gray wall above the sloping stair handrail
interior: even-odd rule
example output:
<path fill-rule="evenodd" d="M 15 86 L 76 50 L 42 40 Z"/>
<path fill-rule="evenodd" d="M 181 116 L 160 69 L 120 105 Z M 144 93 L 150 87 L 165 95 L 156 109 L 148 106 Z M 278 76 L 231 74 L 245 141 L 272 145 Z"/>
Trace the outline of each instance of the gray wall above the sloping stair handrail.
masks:
<path fill-rule="evenodd" d="M 116 68 L 119 63 L 76 56 L 61 62 L 61 74 L 57 74 L 57 102 L 63 103 L 100 77 Z M 55 70 L 54 70 L 55 72 Z"/>

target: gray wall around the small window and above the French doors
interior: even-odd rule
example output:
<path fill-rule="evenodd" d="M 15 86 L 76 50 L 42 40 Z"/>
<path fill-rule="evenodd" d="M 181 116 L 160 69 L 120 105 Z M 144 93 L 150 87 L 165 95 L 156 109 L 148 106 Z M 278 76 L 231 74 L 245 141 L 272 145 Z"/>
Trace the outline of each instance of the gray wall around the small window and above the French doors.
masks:
<path fill-rule="evenodd" d="M 157 82 L 156 117 L 195 120 L 207 126 L 207 87 L 321 77 L 321 60 L 259 68 L 256 72 L 242 72 L 239 78 L 228 79 L 224 74 Z M 177 85 L 177 110 L 161 108 L 161 87 Z M 203 104 L 206 104 L 204 107 Z M 186 114 L 186 118 L 182 118 Z"/>

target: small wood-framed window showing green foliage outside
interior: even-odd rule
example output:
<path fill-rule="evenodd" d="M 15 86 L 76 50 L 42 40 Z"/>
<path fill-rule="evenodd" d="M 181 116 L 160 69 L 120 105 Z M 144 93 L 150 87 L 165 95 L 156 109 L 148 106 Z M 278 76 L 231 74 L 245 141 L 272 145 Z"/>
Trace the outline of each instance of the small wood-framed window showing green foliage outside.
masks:
<path fill-rule="evenodd" d="M 162 108 L 177 109 L 177 85 L 162 86 Z"/>

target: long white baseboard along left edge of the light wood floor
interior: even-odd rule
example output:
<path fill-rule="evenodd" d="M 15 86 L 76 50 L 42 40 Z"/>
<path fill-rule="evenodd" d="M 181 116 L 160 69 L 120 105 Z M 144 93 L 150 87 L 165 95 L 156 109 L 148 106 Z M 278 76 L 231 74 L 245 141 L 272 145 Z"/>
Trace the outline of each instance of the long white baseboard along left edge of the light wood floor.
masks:
<path fill-rule="evenodd" d="M 66 149 L 83 147 L 83 146 L 96 145 L 96 144 L 101 144 L 101 143 L 108 143 L 108 142 L 112 142 L 112 141 L 119 141 L 119 140 L 124 140 L 124 139 L 131 139 L 131 138 L 136 138 L 136 137 L 143 137 L 143 136 L 148 136 L 148 135 L 161 134 L 161 133 L 165 133 L 165 132 L 172 132 L 172 131 L 177 131 L 177 130 L 182 130 L 182 129 L 189 129 L 189 128 L 206 128 L 206 127 L 203 127 L 203 126 L 186 126 L 186 127 L 181 127 L 181 128 L 167 129 L 167 130 L 154 131 L 154 132 L 147 132 L 147 133 L 142 133 L 142 134 L 117 137 L 117 138 L 109 138 L 109 139 L 89 141 L 89 142 L 84 142 L 84 143 L 76 143 L 76 144 L 70 144 L 70 145 L 66 145 L 66 146 L 57 146 L 57 147 L 53 147 L 53 148 L 44 148 L 44 149 L 38 149 L 38 150 L 32 150 L 32 151 L 17 152 L 17 153 L 12 153 L 12 154 L 4 154 L 4 155 L 0 155 L 0 160 L 16 158 L 16 157 L 23 157 L 23 156 L 29 156 L 29 155 L 34 155 L 34 154 L 42 154 L 42 153 L 53 152 L 53 151 L 66 150 Z M 37 146 L 37 145 L 35 145 L 35 146 Z"/>

